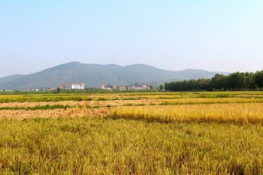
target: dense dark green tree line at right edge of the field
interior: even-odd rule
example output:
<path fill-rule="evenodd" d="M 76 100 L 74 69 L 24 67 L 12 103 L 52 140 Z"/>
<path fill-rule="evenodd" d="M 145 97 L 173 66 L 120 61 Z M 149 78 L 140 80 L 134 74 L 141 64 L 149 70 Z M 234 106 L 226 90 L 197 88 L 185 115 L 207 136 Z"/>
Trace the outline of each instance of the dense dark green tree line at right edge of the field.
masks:
<path fill-rule="evenodd" d="M 237 71 L 229 75 L 217 73 L 209 79 L 166 82 L 164 89 L 167 91 L 263 90 L 263 70 L 255 73 Z"/>

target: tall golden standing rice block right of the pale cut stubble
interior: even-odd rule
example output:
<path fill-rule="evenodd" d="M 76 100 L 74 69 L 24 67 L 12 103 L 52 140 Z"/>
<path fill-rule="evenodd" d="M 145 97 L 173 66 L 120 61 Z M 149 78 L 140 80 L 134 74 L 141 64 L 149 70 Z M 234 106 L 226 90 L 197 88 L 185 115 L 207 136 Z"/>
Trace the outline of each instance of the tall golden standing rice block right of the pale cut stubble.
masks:
<path fill-rule="evenodd" d="M 263 104 L 193 104 L 116 107 L 113 118 L 160 122 L 263 123 Z"/>

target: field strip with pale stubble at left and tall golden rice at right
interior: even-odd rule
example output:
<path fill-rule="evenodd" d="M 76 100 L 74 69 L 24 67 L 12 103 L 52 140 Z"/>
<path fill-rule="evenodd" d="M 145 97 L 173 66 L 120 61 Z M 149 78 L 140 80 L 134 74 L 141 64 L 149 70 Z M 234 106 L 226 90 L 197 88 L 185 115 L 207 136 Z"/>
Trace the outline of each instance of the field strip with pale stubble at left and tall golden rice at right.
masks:
<path fill-rule="evenodd" d="M 144 105 L 101 108 L 57 108 L 0 110 L 1 118 L 90 117 L 143 119 L 159 122 L 263 123 L 263 103 Z"/>

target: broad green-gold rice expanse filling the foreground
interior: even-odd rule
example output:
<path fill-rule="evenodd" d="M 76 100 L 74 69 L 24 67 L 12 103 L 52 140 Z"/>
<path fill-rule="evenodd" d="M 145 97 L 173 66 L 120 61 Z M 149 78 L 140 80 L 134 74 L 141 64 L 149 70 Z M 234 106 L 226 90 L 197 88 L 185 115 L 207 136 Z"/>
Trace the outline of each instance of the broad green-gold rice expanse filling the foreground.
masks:
<path fill-rule="evenodd" d="M 3 119 L 0 174 L 262 174 L 262 125 Z"/>

